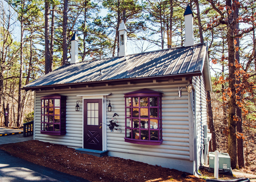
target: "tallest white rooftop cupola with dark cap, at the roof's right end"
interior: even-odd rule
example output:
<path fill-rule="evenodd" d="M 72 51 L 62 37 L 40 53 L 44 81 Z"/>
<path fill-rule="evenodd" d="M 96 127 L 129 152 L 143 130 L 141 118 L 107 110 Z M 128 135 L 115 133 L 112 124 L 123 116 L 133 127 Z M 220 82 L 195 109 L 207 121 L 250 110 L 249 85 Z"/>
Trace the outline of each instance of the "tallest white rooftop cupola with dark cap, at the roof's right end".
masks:
<path fill-rule="evenodd" d="M 184 19 L 185 19 L 185 43 L 184 47 L 194 46 L 194 32 L 193 32 L 193 12 L 189 6 L 187 6 Z"/>

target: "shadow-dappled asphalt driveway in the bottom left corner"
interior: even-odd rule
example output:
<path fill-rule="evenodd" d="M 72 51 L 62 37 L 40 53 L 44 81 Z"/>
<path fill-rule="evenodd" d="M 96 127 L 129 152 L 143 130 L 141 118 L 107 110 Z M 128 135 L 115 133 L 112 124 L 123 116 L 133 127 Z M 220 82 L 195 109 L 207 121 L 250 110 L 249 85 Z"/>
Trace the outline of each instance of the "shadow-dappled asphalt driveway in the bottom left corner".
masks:
<path fill-rule="evenodd" d="M 33 156 L 31 156 L 33 157 Z M 36 165 L 13 157 L 0 150 L 0 181 L 1 182 L 90 182 L 84 178 L 72 176 L 44 166 Z"/>

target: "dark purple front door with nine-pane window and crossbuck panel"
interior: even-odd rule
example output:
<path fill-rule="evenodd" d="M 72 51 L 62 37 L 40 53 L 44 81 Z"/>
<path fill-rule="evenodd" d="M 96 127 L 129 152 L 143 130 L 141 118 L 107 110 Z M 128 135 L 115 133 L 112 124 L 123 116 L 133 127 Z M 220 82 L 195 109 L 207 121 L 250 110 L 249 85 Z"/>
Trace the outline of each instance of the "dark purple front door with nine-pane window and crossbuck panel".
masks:
<path fill-rule="evenodd" d="M 102 150 L 102 99 L 84 99 L 84 149 Z"/>

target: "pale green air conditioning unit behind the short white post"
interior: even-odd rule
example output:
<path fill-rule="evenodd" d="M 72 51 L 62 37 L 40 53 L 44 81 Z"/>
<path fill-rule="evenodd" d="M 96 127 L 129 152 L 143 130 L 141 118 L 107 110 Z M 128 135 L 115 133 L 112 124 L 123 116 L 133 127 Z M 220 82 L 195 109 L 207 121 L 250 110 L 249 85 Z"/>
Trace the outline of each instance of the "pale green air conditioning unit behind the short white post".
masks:
<path fill-rule="evenodd" d="M 214 168 L 214 152 L 209 152 L 209 167 Z M 219 169 L 229 170 L 231 172 L 230 157 L 228 153 L 219 154 Z"/>

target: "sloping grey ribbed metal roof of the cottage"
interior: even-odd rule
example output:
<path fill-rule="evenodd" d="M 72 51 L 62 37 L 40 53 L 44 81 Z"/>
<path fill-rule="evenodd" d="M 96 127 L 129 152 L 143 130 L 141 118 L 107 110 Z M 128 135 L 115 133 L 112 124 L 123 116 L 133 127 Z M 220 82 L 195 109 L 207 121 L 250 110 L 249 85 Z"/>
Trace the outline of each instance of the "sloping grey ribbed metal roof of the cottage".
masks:
<path fill-rule="evenodd" d="M 66 64 L 25 85 L 23 89 L 202 73 L 206 52 L 207 44 L 202 43 L 126 55 L 126 60 L 124 57 L 111 57 Z"/>

